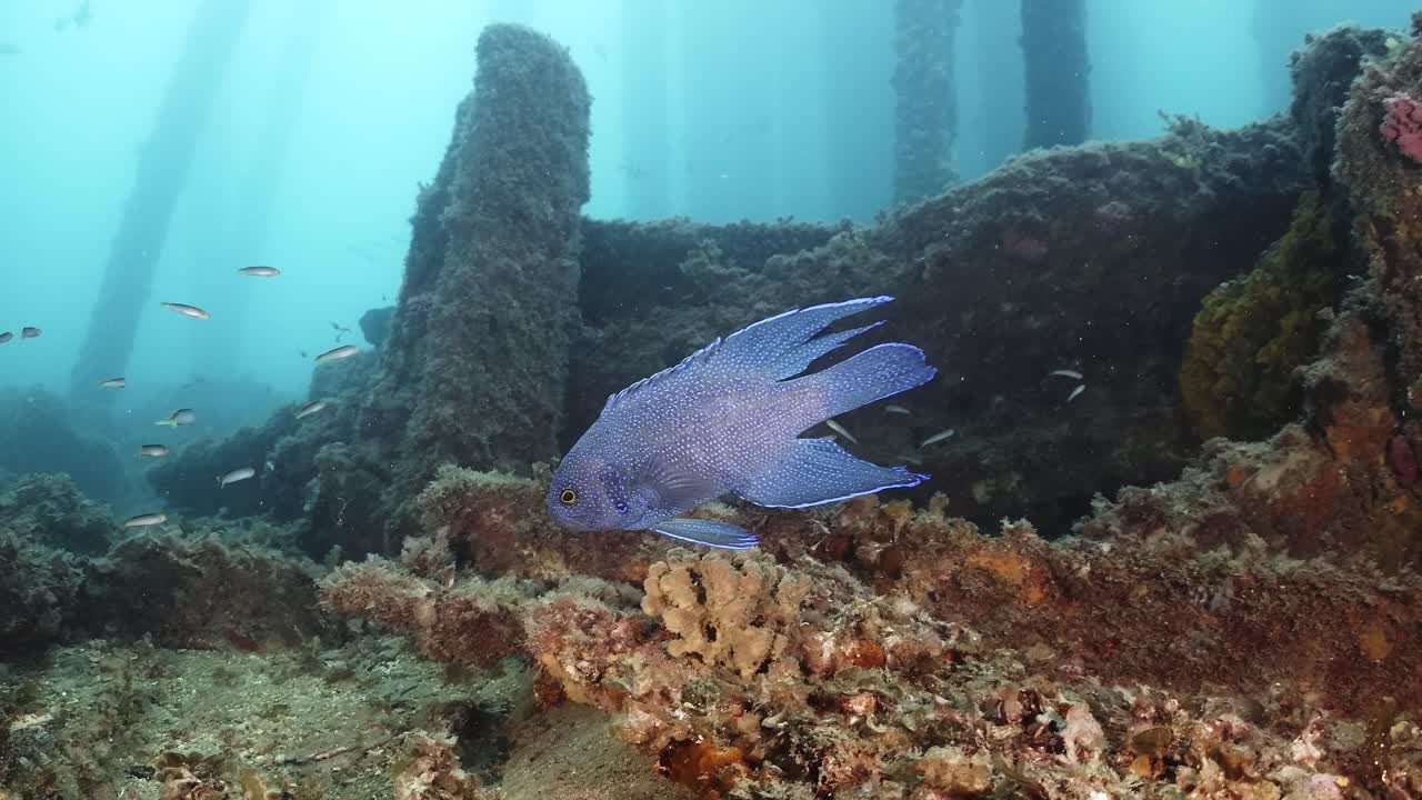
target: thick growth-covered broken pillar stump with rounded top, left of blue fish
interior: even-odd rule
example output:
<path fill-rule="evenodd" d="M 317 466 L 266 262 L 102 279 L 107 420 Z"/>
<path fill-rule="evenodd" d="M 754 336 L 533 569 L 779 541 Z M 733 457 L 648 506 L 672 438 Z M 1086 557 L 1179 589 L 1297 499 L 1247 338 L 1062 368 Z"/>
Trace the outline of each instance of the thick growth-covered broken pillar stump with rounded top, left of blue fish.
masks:
<path fill-rule="evenodd" d="M 421 191 L 381 374 L 361 411 L 361 436 L 394 471 L 387 512 L 442 463 L 523 473 L 557 453 L 590 104 L 553 40 L 512 24 L 479 37 L 475 88 Z"/>

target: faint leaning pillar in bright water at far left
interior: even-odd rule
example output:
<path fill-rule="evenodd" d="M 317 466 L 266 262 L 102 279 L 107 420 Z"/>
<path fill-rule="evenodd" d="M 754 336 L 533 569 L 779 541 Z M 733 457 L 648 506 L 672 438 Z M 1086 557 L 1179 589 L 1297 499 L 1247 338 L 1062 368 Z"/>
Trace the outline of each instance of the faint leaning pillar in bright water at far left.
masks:
<path fill-rule="evenodd" d="M 128 366 L 138 320 L 148 307 L 154 270 L 168 239 L 168 223 L 188 182 L 198 137 L 249 7 L 249 0 L 205 0 L 188 28 L 186 46 L 158 105 L 154 131 L 138 148 L 138 174 L 109 245 L 104 283 L 74 364 L 70 390 L 75 397 L 117 397 L 95 386 L 124 374 Z"/>

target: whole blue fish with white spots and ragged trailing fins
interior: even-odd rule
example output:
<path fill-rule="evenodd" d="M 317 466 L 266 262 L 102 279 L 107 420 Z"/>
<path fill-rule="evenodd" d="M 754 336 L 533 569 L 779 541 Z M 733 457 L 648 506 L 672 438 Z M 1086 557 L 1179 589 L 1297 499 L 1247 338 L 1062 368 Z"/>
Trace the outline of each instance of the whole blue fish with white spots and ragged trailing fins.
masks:
<path fill-rule="evenodd" d="M 757 544 L 749 532 L 677 515 L 731 493 L 758 505 L 802 508 L 917 485 L 927 475 L 860 461 L 832 438 L 798 438 L 937 373 L 923 350 L 890 343 L 801 374 L 879 323 L 822 333 L 826 326 L 892 299 L 772 316 L 613 394 L 555 473 L 549 515 L 574 531 L 656 531 L 745 549 Z"/>

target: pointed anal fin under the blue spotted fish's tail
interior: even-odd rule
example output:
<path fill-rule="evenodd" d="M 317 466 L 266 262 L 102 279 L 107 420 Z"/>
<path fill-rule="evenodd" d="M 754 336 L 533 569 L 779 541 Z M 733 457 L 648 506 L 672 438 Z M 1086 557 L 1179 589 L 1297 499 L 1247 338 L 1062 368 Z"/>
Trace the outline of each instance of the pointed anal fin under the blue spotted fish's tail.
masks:
<path fill-rule="evenodd" d="M 801 438 L 791 457 L 751 478 L 737 494 L 757 505 L 803 508 L 919 485 L 927 475 L 855 458 L 829 438 Z"/>

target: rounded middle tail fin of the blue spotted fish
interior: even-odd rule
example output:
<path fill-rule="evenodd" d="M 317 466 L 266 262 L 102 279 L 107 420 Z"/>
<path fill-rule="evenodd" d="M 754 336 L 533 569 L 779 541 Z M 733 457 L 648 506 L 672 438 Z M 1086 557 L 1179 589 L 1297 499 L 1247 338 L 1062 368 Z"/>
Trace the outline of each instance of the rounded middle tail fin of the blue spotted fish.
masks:
<path fill-rule="evenodd" d="M 875 400 L 923 386 L 937 373 L 937 369 L 924 362 L 923 350 L 913 344 L 890 342 L 815 374 L 796 379 L 791 386 L 803 387 L 818 396 L 819 401 L 809 404 L 818 409 L 818 413 L 816 419 L 806 421 L 808 428 Z"/>

